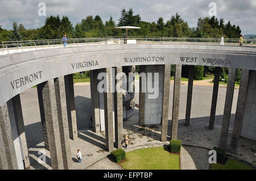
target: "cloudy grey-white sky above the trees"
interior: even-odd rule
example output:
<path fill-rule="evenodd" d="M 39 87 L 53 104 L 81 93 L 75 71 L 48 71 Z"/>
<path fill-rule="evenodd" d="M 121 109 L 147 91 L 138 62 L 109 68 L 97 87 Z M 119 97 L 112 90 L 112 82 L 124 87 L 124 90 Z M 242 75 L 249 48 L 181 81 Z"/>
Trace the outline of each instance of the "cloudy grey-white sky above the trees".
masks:
<path fill-rule="evenodd" d="M 46 4 L 46 16 L 38 15 L 40 2 Z M 50 15 L 67 15 L 74 25 L 88 15 L 100 15 L 104 22 L 112 15 L 118 22 L 122 8 L 131 7 L 147 22 L 156 22 L 160 16 L 166 22 L 178 12 L 195 27 L 199 17 L 209 16 L 211 2 L 216 3 L 217 18 L 239 25 L 242 33 L 256 34 L 256 0 L 0 0 L 0 26 L 10 30 L 15 21 L 38 28 Z"/>

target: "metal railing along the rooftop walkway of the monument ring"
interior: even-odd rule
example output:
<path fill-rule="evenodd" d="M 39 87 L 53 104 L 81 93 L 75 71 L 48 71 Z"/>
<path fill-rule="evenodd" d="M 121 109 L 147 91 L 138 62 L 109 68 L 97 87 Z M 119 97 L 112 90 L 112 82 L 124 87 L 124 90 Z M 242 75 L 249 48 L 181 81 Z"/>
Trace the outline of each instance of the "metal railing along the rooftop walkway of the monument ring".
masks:
<path fill-rule="evenodd" d="M 90 38 L 76 38 L 69 39 L 69 45 L 90 45 L 95 43 L 108 44 L 107 41 L 113 41 L 113 43 L 123 44 L 127 40 L 137 40 L 138 43 L 199 43 L 199 44 L 219 44 L 219 38 L 198 38 L 198 37 L 144 37 L 144 36 L 129 36 L 127 39 L 122 36 L 109 36 L 109 37 L 90 37 Z M 238 44 L 239 39 L 224 39 L 225 44 Z M 1 51 L 13 49 L 37 49 L 37 48 L 54 48 L 60 47 L 63 44 L 62 39 L 51 39 L 51 40 L 26 40 L 26 41 L 3 41 L 0 45 Z M 256 45 L 256 39 L 244 39 L 245 45 Z"/>

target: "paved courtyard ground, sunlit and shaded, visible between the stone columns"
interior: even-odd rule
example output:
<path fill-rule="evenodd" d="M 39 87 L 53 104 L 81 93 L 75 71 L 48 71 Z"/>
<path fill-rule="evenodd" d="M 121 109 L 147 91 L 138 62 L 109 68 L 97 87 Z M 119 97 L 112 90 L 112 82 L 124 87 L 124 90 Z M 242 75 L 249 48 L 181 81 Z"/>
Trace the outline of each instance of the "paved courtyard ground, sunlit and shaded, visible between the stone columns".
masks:
<path fill-rule="evenodd" d="M 138 86 L 138 82 L 136 82 L 136 86 Z M 171 90 L 173 90 L 172 83 Z M 181 150 L 181 169 L 209 169 L 208 149 L 212 149 L 213 146 L 218 145 L 224 111 L 225 92 L 225 87 L 219 88 L 215 128 L 214 130 L 209 130 L 208 123 L 212 99 L 212 87 L 195 85 L 193 87 L 192 96 L 191 125 L 185 127 L 184 119 L 187 85 L 181 85 L 178 129 L 178 139 L 181 140 L 183 144 Z M 236 89 L 234 91 L 232 116 L 229 127 L 230 131 L 232 131 L 234 113 L 236 112 L 237 94 L 238 90 Z M 28 89 L 27 91 L 22 92 L 20 96 L 30 154 L 30 169 L 51 169 L 49 151 L 44 150 L 36 88 Z M 173 92 L 171 91 L 168 136 L 171 135 L 172 96 Z M 73 169 L 121 169 L 107 158 L 109 152 L 105 151 L 104 132 L 97 134 L 92 132 L 89 83 L 82 86 L 75 86 L 75 100 L 79 138 L 76 141 L 71 141 Z M 138 94 L 135 94 L 135 103 L 138 104 Z M 163 143 L 159 141 L 160 125 L 149 125 L 147 127 L 138 125 L 138 109 L 135 110 L 133 117 L 123 121 L 123 134 L 127 134 L 130 138 L 129 148 L 126 151 L 168 144 L 168 142 Z M 230 134 L 228 141 L 230 141 Z M 77 149 L 80 149 L 82 152 L 81 164 L 77 163 Z M 46 154 L 46 163 L 38 162 L 38 157 L 40 157 L 38 154 L 39 150 Z M 238 151 L 233 155 L 256 165 L 255 153 L 256 141 L 241 138 L 238 143 Z"/>

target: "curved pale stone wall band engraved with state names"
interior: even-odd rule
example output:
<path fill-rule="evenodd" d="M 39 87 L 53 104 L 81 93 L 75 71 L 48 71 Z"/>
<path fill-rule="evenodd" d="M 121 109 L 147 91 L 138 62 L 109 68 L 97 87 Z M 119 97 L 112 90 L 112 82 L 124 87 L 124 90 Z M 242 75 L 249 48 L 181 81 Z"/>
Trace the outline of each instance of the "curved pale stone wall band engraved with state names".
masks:
<path fill-rule="evenodd" d="M 219 45 L 95 45 L 0 56 L 0 106 L 49 79 L 80 71 L 130 65 L 207 65 L 256 70 L 256 48 Z"/>

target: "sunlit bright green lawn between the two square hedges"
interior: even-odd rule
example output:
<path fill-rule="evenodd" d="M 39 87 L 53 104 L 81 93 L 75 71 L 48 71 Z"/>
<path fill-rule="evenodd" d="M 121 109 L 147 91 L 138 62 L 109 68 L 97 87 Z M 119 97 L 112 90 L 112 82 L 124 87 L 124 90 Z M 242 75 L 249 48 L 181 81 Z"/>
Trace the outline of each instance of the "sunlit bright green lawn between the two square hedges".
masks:
<path fill-rule="evenodd" d="M 167 148 L 146 148 L 127 152 L 127 161 L 120 165 L 127 170 L 179 170 L 179 155 L 170 154 Z"/>

